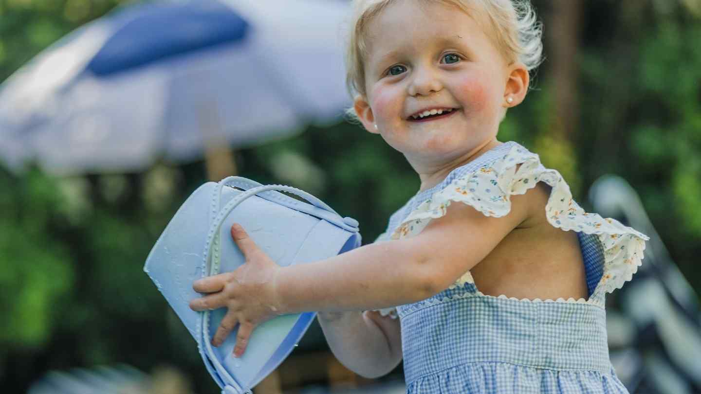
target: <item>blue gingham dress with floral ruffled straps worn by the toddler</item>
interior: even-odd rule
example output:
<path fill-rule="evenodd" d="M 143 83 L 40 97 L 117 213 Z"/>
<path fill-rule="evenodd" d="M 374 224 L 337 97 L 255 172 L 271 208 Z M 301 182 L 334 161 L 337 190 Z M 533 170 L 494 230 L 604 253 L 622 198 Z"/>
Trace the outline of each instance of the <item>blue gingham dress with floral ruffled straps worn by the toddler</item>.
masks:
<path fill-rule="evenodd" d="M 508 196 L 537 182 L 552 186 L 548 221 L 578 233 L 588 299 L 493 297 L 479 292 L 468 272 L 433 297 L 380 310 L 401 321 L 407 393 L 628 393 L 608 358 L 604 303 L 637 271 L 648 238 L 584 212 L 559 172 L 520 144 L 498 145 L 419 192 L 377 242 L 416 235 L 458 201 L 506 215 Z"/>

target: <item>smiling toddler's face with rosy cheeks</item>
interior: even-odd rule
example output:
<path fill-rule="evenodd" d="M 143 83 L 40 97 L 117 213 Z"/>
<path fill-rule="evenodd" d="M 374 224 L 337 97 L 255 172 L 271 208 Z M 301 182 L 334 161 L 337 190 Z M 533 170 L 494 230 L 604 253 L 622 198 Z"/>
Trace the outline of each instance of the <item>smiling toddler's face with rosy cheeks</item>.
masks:
<path fill-rule="evenodd" d="M 367 42 L 367 99 L 356 101 L 356 111 L 367 130 L 409 161 L 433 164 L 474 153 L 496 140 L 503 111 L 522 99 L 508 91 L 515 66 L 459 8 L 397 1 L 370 22 Z M 441 108 L 453 111 L 413 117 Z"/>

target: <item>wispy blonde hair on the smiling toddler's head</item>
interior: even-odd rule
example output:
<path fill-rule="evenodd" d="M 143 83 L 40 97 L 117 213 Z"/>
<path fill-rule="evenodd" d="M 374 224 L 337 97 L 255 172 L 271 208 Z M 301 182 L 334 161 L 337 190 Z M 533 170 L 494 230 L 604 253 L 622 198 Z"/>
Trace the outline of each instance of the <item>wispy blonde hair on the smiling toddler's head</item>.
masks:
<path fill-rule="evenodd" d="M 367 41 L 365 32 L 369 22 L 390 4 L 398 0 L 353 0 L 354 13 L 348 30 L 346 48 L 346 87 L 351 97 L 367 97 L 365 90 L 365 57 Z M 399 0 L 401 1 L 401 0 Z M 530 0 L 421 0 L 440 1 L 454 5 L 466 13 L 475 11 L 475 6 L 489 20 L 494 34 L 494 43 L 508 62 L 520 61 L 531 72 L 542 62 L 543 24 L 536 19 Z M 355 109 L 346 111 L 357 119 Z"/>

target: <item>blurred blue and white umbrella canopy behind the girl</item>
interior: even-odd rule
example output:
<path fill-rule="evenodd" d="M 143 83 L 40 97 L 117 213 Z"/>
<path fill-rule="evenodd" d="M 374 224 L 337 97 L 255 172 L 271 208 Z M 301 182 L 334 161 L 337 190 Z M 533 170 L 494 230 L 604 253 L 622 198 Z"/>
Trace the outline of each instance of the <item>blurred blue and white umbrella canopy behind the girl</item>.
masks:
<path fill-rule="evenodd" d="M 0 161 L 128 172 L 338 121 L 348 2 L 129 6 L 64 37 L 0 86 Z"/>

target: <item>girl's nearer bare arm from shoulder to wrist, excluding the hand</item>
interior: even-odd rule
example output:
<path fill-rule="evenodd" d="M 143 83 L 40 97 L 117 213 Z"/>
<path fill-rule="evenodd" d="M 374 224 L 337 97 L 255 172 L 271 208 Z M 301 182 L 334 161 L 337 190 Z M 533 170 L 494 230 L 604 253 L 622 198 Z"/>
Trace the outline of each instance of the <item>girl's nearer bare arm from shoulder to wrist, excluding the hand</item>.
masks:
<path fill-rule="evenodd" d="M 287 313 L 358 311 L 431 297 L 482 261 L 526 219 L 524 196 L 512 198 L 515 206 L 505 217 L 486 217 L 453 203 L 445 216 L 412 238 L 283 267 L 275 286 L 280 307 Z"/>

